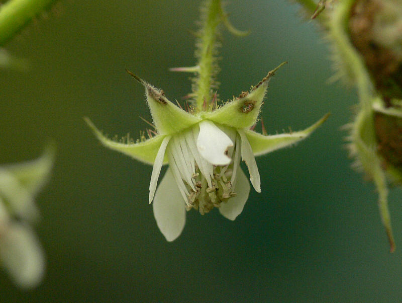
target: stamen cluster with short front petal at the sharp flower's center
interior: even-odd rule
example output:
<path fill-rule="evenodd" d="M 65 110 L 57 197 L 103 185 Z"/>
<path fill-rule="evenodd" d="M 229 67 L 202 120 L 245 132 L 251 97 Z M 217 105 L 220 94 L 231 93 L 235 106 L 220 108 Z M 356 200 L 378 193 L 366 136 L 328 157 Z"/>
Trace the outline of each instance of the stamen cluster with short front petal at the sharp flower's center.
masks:
<path fill-rule="evenodd" d="M 194 208 L 201 214 L 236 196 L 233 185 L 240 164 L 237 132 L 211 124 L 173 136 L 167 147 L 169 165 L 186 209 Z"/>

